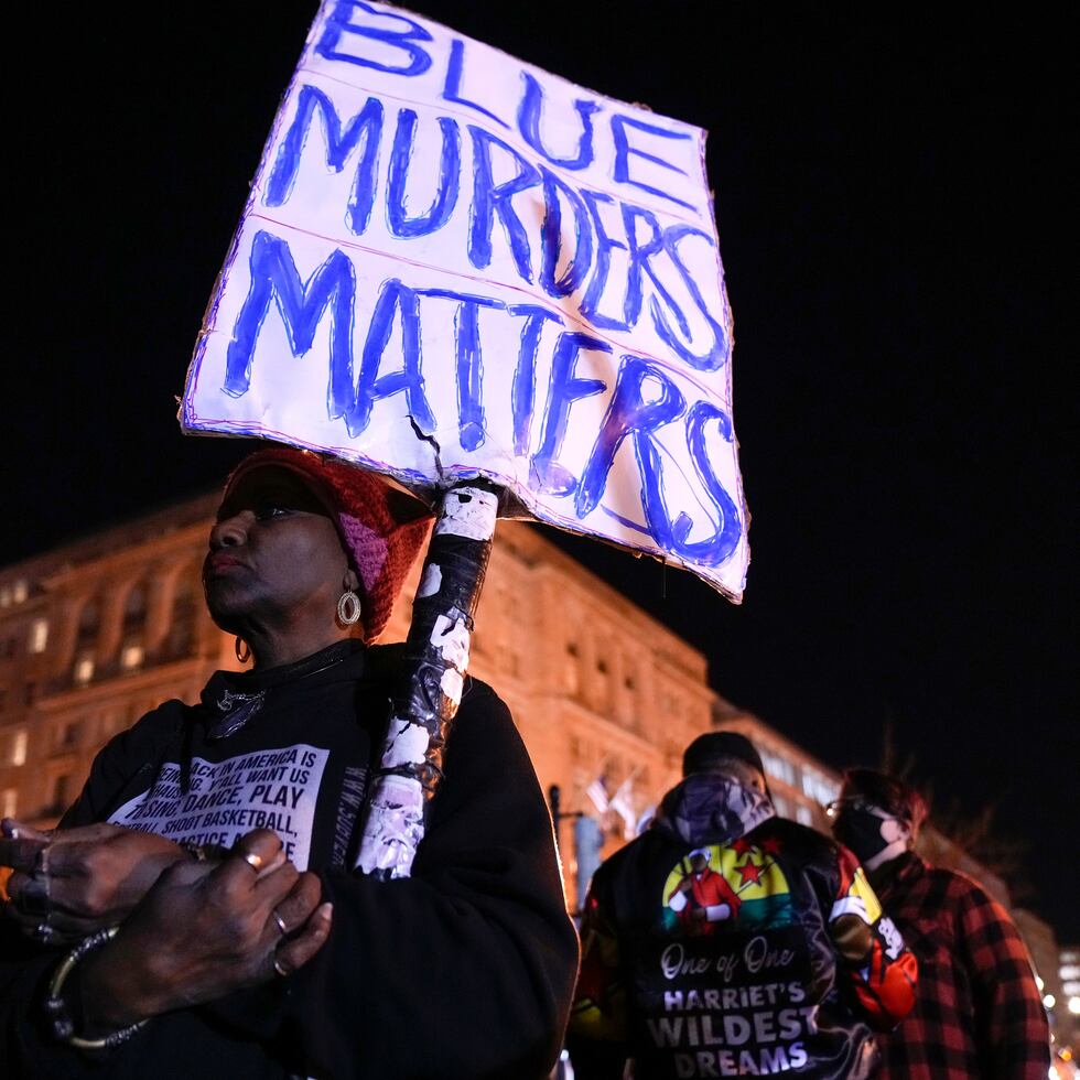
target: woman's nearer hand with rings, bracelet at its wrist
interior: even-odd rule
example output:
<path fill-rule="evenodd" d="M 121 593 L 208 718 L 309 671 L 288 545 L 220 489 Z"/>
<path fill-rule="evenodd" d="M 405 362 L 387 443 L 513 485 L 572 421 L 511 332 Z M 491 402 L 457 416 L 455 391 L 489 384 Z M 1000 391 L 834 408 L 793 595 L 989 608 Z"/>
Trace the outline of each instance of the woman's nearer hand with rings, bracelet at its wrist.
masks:
<path fill-rule="evenodd" d="M 120 932 L 83 961 L 90 1032 L 215 1001 L 291 974 L 330 935 L 322 884 L 290 863 L 274 833 L 248 833 L 219 865 L 166 870 Z"/>

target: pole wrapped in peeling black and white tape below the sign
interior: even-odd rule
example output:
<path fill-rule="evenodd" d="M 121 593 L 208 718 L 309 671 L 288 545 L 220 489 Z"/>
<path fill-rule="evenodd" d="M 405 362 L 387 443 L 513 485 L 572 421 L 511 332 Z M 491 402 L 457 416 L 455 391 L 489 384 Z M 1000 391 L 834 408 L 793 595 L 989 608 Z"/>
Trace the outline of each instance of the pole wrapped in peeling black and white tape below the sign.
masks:
<path fill-rule="evenodd" d="M 356 868 L 372 877 L 408 877 L 423 840 L 428 804 L 442 779 L 443 750 L 462 700 L 498 506 L 498 492 L 483 480 L 458 484 L 443 497 L 356 856 Z"/>

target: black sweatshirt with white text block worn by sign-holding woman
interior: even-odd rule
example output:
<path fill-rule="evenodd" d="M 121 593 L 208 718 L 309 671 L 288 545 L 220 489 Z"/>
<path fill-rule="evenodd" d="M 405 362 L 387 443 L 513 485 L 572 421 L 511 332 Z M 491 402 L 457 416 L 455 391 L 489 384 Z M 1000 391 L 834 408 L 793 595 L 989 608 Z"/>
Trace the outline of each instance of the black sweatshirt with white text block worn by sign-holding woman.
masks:
<path fill-rule="evenodd" d="M 43 1036 L 43 984 L 62 953 L 9 933 L 0 994 L 3 1060 L 15 1074 L 547 1074 L 577 942 L 543 796 L 489 687 L 466 683 L 413 876 L 377 882 L 350 870 L 393 667 L 392 652 L 376 648 L 299 676 L 218 672 L 199 705 L 166 702 L 109 743 L 64 824 L 115 820 L 226 843 L 273 828 L 298 866 L 321 874 L 333 929 L 290 979 L 154 1017 L 129 1043 L 93 1055 Z M 259 690 L 264 701 L 244 727 L 207 737 L 226 691 Z"/>

